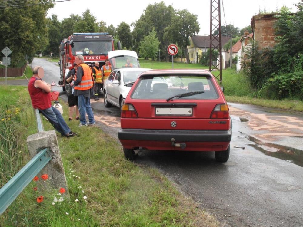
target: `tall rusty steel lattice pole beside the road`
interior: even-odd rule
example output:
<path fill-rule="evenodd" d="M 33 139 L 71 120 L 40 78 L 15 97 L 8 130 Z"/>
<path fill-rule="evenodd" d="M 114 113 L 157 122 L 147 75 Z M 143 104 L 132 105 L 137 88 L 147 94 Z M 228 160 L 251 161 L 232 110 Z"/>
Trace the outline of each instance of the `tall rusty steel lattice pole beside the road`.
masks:
<path fill-rule="evenodd" d="M 214 26 L 214 28 L 212 27 Z M 218 35 L 212 35 L 218 29 Z M 219 70 L 219 75 L 215 76 L 222 83 L 222 41 L 221 41 L 221 10 L 220 0 L 210 1 L 210 38 L 209 38 L 209 71 Z M 212 64 L 212 52 L 218 49 L 219 63 Z M 218 61 L 217 61 L 218 62 Z"/>

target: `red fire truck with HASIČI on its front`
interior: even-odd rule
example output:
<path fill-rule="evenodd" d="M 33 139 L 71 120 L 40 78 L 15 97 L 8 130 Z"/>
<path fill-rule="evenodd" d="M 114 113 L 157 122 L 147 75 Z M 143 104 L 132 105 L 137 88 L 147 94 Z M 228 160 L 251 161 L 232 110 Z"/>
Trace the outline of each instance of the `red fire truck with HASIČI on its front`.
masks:
<path fill-rule="evenodd" d="M 121 50 L 121 44 L 118 41 L 117 47 Z M 63 91 L 67 91 L 65 77 L 73 68 L 73 62 L 77 55 L 84 57 L 84 62 L 92 67 L 93 63 L 98 61 L 100 67 L 105 64 L 108 58 L 108 52 L 114 50 L 114 39 L 108 33 L 73 33 L 68 38 L 62 40 L 60 51 L 60 81 Z"/>

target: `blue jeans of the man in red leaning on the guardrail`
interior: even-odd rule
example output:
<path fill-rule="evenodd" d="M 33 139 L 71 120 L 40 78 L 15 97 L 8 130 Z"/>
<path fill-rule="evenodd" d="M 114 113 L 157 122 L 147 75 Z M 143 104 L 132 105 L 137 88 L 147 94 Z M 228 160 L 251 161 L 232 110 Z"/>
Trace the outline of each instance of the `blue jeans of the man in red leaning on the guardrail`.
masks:
<path fill-rule="evenodd" d="M 50 107 L 45 110 L 39 110 L 40 113 L 53 125 L 55 130 L 61 133 L 62 136 L 71 132 L 71 129 L 65 123 L 61 113 L 55 107 Z"/>

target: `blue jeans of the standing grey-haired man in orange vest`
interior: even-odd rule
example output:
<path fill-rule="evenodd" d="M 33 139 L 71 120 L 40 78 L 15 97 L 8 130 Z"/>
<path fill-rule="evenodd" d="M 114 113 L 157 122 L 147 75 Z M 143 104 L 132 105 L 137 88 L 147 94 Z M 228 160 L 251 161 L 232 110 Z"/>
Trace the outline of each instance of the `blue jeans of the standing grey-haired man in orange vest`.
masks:
<path fill-rule="evenodd" d="M 90 124 L 95 123 L 94 114 L 91 107 L 91 101 L 89 97 L 85 97 L 84 95 L 78 95 L 78 109 L 80 113 L 80 123 L 86 124 L 85 113 L 87 113 L 88 121 Z"/>

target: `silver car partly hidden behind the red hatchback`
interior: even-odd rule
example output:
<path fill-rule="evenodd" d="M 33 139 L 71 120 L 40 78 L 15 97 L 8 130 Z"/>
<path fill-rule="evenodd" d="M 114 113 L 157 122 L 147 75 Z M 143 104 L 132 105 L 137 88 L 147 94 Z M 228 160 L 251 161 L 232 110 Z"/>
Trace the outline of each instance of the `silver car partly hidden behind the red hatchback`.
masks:
<path fill-rule="evenodd" d="M 105 107 L 115 105 L 121 109 L 128 92 L 131 90 L 132 84 L 142 72 L 148 70 L 152 69 L 119 68 L 112 71 L 103 86 Z"/>

